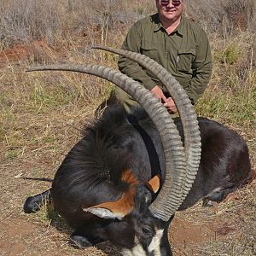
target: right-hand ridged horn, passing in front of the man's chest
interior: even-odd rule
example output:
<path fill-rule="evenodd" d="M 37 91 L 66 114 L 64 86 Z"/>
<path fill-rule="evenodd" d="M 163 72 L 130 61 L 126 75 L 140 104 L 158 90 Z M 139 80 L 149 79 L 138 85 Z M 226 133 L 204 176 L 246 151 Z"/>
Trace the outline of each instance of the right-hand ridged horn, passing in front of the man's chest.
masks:
<path fill-rule="evenodd" d="M 166 86 L 166 89 L 172 96 L 183 124 L 183 132 L 185 138 L 184 148 L 187 163 L 186 172 L 181 173 L 181 178 L 183 179 L 181 182 L 183 195 L 180 197 L 181 201 L 179 205 L 177 205 L 177 208 L 180 207 L 186 195 L 189 194 L 189 190 L 194 183 L 201 159 L 200 131 L 198 121 L 196 119 L 195 109 L 189 100 L 189 96 L 187 96 L 187 93 L 185 90 L 183 90 L 183 87 L 177 82 L 177 80 L 172 77 L 171 73 L 167 72 L 166 69 L 159 63 L 145 55 L 124 49 L 113 49 L 102 45 L 95 45 L 92 48 L 107 50 L 118 55 L 125 56 L 132 61 L 136 61 L 138 64 L 147 68 L 151 73 L 153 73 L 155 77 L 160 79 L 160 82 Z M 165 195 L 166 199 L 164 200 L 169 201 L 169 196 L 170 195 Z M 155 212 L 159 212 L 159 209 L 161 209 L 161 211 L 165 211 L 164 207 L 161 205 L 161 201 L 162 199 L 160 199 L 160 196 L 158 196 L 153 204 L 151 204 L 149 207 L 150 211 L 154 215 L 158 215 L 158 213 Z"/>

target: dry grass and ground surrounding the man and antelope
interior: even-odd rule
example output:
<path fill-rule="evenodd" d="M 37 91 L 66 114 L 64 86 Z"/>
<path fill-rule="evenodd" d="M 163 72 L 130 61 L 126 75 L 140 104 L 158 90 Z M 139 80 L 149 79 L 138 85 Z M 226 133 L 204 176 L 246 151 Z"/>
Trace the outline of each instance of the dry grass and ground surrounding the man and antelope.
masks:
<path fill-rule="evenodd" d="M 230 1 L 217 2 L 230 4 Z M 22 15 L 26 3 L 30 5 Z M 154 9 L 151 0 L 146 3 L 136 0 L 129 4 L 86 0 L 0 3 L 0 28 L 4 27 L 0 29 L 3 33 L 0 47 L 4 49 L 0 52 L 0 255 L 119 255 L 108 243 L 82 251 L 70 247 L 71 230 L 48 207 L 36 214 L 24 214 L 22 205 L 26 196 L 48 189 L 50 184 L 15 178 L 54 177 L 61 160 L 79 140 L 80 128 L 90 122 L 113 85 L 78 73 L 26 73 L 25 69 L 55 62 L 104 63 L 116 67 L 115 55 L 91 50 L 90 45 L 119 47 L 128 27 Z M 194 2 L 187 3 L 187 13 L 191 14 Z M 203 11 L 203 3 L 208 1 L 201 0 L 197 11 Z M 250 3 L 247 2 L 247 8 Z M 42 15 L 41 11 L 38 14 L 36 4 L 45 6 Z M 46 16 L 46 10 L 52 6 L 54 22 Z M 14 23 L 16 11 L 16 21 L 22 22 Z M 210 19 L 209 15 L 206 17 Z M 229 17 L 231 22 L 232 15 Z M 196 106 L 197 112 L 241 133 L 256 169 L 256 64 L 248 22 L 242 32 L 232 26 L 232 32 L 218 37 L 224 25 L 220 24 L 217 30 L 212 20 L 202 20 L 211 38 L 214 71 L 205 96 Z M 176 230 L 183 233 L 172 236 L 176 255 L 255 255 L 255 186 L 252 183 L 240 189 L 218 206 L 206 209 L 198 204 L 177 213 L 171 233 L 176 234 Z M 195 234 L 198 240 L 193 238 Z"/>

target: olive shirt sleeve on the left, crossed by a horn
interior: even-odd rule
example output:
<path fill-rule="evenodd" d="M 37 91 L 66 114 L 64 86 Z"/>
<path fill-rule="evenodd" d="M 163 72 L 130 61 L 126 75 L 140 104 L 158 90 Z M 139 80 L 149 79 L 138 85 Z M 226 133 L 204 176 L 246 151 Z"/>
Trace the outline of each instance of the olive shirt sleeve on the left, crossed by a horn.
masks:
<path fill-rule="evenodd" d="M 127 33 L 122 49 L 140 53 L 142 37 L 142 29 L 139 27 L 139 24 L 136 23 L 134 26 L 131 26 L 130 31 Z M 138 65 L 137 62 L 120 56 L 118 65 L 121 73 L 125 73 L 127 76 L 143 84 L 148 90 L 153 89 L 156 85 L 154 80 L 148 76 L 143 67 Z"/>

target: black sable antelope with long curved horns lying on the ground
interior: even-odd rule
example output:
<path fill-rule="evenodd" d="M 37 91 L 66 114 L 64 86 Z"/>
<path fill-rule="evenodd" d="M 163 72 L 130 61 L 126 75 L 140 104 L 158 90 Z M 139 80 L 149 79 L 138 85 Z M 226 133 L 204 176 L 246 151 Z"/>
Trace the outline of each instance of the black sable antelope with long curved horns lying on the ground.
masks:
<path fill-rule="evenodd" d="M 183 88 L 155 61 L 109 48 L 150 69 L 174 99 L 174 121 L 143 85 L 96 65 L 55 65 L 32 70 L 66 70 L 108 79 L 134 97 L 145 112 L 126 115 L 114 105 L 77 143 L 55 173 L 52 188 L 26 199 L 36 212 L 52 199 L 74 228 L 81 247 L 110 240 L 123 255 L 172 255 L 168 226 L 177 210 L 200 199 L 222 201 L 252 177 L 245 141 L 209 119 L 196 119 Z M 201 133 L 200 133 L 201 132 Z M 201 135 L 200 135 L 201 134 Z"/>

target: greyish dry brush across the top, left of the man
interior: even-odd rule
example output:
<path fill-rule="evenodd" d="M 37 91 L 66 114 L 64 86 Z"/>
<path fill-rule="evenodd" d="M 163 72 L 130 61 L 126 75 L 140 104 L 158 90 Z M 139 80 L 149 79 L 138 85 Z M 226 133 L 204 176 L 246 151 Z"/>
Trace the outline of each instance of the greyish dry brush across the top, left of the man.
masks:
<path fill-rule="evenodd" d="M 148 12 L 147 6 L 151 5 L 119 0 L 4 0 L 0 3 L 0 47 L 41 39 L 54 44 L 56 38 L 69 34 L 90 37 L 95 32 L 106 44 L 109 30 L 130 26 Z"/>

